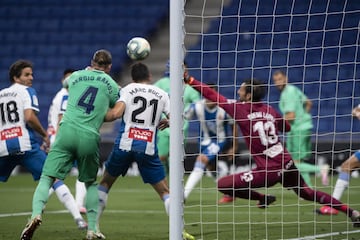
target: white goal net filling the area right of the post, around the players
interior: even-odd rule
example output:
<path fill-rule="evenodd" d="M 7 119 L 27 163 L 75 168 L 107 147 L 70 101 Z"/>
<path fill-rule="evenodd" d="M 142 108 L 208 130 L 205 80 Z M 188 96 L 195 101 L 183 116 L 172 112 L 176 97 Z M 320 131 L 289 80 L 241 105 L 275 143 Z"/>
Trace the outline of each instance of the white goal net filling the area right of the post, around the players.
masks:
<path fill-rule="evenodd" d="M 310 181 L 313 188 L 332 194 L 341 163 L 360 149 L 360 121 L 351 115 L 360 104 L 358 0 L 188 0 L 184 16 L 185 59 L 196 79 L 215 83 L 229 99 L 238 99 L 245 79 L 260 79 L 267 84 L 264 101 L 280 112 L 280 91 L 272 75 L 282 70 L 289 84 L 311 100 L 312 148 L 304 160 L 321 171 L 329 165 L 328 186 L 318 170 L 310 173 Z M 190 120 L 186 176 L 203 151 L 201 124 L 199 118 Z M 230 125 L 227 149 L 234 146 L 233 135 Z M 286 142 L 286 136 L 281 137 Z M 226 148 L 217 154 L 186 198 L 185 229 L 196 239 L 359 237 L 345 214 L 318 215 L 315 210 L 321 205 L 298 198 L 280 184 L 259 189 L 276 196 L 268 208 L 259 209 L 256 201 L 246 199 L 220 204 L 223 195 L 216 180 L 254 167 L 241 133 L 234 141 L 236 154 L 226 155 Z M 355 171 L 341 201 L 360 209 L 359 196 Z"/>

